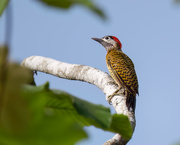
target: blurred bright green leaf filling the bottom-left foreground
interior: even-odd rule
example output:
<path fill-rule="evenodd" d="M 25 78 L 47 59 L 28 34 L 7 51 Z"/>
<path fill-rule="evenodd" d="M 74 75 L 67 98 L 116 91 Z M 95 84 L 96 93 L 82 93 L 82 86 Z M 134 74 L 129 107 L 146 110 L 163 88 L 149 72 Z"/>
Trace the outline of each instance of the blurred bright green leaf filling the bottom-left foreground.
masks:
<path fill-rule="evenodd" d="M 47 104 L 53 97 L 48 83 L 39 87 L 26 85 L 23 88 L 21 95 L 26 102 L 26 106 L 18 107 L 21 107 L 18 112 L 23 112 L 23 114 L 16 117 L 19 118 L 20 122 L 25 120 L 29 120 L 29 122 L 20 131 L 0 128 L 0 144 L 73 145 L 78 140 L 87 137 L 80 123 L 75 122 L 66 114 L 56 113 L 55 108 L 48 107 Z M 16 113 L 16 110 L 14 110 L 14 113 Z M 26 113 L 28 116 L 25 115 Z M 10 115 L 12 116 L 12 114 Z M 17 124 L 17 128 L 22 127 L 24 125 Z"/>

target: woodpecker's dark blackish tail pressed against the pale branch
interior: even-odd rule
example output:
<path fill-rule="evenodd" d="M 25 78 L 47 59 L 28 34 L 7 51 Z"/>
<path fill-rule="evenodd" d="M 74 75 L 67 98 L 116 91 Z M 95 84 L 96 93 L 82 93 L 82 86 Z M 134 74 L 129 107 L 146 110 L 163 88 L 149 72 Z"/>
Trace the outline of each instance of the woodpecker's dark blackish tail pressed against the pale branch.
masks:
<path fill-rule="evenodd" d="M 132 108 L 133 112 L 135 112 L 135 108 L 136 108 L 136 95 L 133 95 L 130 92 L 127 92 L 126 106 L 127 106 L 128 110 L 130 110 L 130 108 Z"/>

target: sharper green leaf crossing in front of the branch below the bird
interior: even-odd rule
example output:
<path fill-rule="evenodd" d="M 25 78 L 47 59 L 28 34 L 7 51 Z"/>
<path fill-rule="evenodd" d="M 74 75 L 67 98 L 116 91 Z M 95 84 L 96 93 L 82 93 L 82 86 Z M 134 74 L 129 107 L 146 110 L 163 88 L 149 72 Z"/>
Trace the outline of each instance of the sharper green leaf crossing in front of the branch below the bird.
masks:
<path fill-rule="evenodd" d="M 54 96 L 51 96 L 53 99 L 48 106 L 56 108 L 58 113 L 71 116 L 82 125 L 93 125 L 106 131 L 119 133 L 125 139 L 131 138 L 132 128 L 127 116 L 111 115 L 109 108 L 81 100 L 63 91 L 52 90 L 52 92 Z"/>

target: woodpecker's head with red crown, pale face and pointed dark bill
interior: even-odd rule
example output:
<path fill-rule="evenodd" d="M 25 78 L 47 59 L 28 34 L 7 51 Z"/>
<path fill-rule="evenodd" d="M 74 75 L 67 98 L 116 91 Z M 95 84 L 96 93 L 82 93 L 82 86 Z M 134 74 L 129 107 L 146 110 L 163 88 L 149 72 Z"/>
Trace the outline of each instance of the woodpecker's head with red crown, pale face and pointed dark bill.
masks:
<path fill-rule="evenodd" d="M 103 38 L 92 38 L 93 40 L 102 44 L 106 50 L 117 49 L 121 50 L 122 44 L 115 36 L 104 36 Z"/>

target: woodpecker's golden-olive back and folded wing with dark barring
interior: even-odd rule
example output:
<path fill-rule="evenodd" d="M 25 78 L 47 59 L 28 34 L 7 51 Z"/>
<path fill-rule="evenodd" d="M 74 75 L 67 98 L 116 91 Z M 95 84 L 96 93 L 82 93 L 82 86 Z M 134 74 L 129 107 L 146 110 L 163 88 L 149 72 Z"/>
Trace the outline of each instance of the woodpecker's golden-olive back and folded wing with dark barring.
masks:
<path fill-rule="evenodd" d="M 107 66 L 117 84 L 128 89 L 132 94 L 138 94 L 138 80 L 132 60 L 123 52 L 110 52 L 107 55 Z"/>

